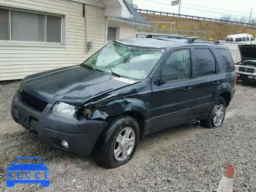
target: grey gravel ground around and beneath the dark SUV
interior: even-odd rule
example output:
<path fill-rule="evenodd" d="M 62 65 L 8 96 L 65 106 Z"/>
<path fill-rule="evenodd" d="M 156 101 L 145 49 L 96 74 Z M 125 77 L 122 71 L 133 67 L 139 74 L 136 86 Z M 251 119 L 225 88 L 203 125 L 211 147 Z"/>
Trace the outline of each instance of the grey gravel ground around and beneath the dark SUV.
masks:
<path fill-rule="evenodd" d="M 7 90 L 6 85 L 1 86 Z M 48 146 L 25 131 L 2 134 L 0 188 L 8 191 L 6 168 L 16 157 L 38 156 L 50 169 L 50 186 L 17 184 L 12 190 L 213 192 L 231 162 L 235 167 L 234 192 L 256 191 L 256 86 L 238 84 L 236 88 L 222 127 L 204 129 L 198 124 L 184 124 L 152 134 L 140 143 L 128 164 L 112 170 Z M 4 103 L 9 102 L 7 98 Z M 2 104 L 1 109 L 7 110 Z"/>

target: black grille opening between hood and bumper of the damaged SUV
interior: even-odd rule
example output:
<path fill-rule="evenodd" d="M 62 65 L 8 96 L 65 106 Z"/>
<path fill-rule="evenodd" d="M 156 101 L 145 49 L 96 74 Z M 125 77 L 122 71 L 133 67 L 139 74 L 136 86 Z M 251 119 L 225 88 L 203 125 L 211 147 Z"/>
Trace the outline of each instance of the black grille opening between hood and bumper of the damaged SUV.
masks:
<path fill-rule="evenodd" d="M 23 102 L 25 102 L 26 104 L 32 106 L 33 108 L 35 108 L 39 111 L 43 111 L 47 105 L 46 102 L 44 102 L 38 98 L 35 98 L 34 96 L 28 94 L 25 91 L 21 92 L 21 97 L 22 97 Z"/>

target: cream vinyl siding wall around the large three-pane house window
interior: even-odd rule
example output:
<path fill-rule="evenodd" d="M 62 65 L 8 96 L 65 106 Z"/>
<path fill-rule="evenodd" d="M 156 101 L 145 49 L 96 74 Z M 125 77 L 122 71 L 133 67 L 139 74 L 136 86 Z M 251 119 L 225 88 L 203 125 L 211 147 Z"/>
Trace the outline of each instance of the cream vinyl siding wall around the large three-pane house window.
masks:
<path fill-rule="evenodd" d="M 86 30 L 82 3 L 86 4 Z M 0 42 L 0 80 L 79 64 L 105 44 L 106 17 L 102 0 L 0 0 L 0 6 L 60 14 L 66 18 L 63 45 Z M 87 32 L 87 34 L 85 34 Z M 87 36 L 87 40 L 86 40 Z M 93 48 L 86 53 L 86 42 Z"/>

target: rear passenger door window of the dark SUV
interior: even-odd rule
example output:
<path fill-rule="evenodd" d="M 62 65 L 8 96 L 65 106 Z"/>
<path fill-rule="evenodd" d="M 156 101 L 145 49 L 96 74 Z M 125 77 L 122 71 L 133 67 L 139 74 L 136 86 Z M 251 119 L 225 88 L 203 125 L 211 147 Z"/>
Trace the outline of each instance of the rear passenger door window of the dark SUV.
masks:
<path fill-rule="evenodd" d="M 209 49 L 194 49 L 196 77 L 216 74 L 216 62 Z"/>

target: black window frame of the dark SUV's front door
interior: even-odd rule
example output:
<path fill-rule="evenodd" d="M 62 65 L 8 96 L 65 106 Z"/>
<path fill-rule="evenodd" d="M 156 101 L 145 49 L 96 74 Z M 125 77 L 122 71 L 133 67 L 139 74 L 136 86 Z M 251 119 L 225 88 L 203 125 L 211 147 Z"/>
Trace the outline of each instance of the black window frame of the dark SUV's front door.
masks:
<path fill-rule="evenodd" d="M 189 50 L 189 52 L 190 52 L 190 78 L 177 79 L 177 80 L 172 80 L 172 81 L 166 81 L 165 84 L 173 83 L 173 82 L 181 82 L 181 81 L 191 80 L 191 79 L 194 78 L 194 74 L 193 74 L 193 65 L 192 65 L 193 60 L 194 60 L 194 58 L 193 58 L 194 56 L 193 56 L 193 53 L 192 53 L 191 48 L 190 48 L 190 47 L 185 47 L 185 48 L 180 48 L 180 49 L 172 50 L 172 51 L 170 51 L 170 52 L 167 54 L 167 56 L 164 58 L 164 60 L 163 60 L 162 63 L 161 63 L 161 66 L 160 66 L 160 68 L 159 68 L 159 70 L 158 70 L 158 72 L 157 72 L 157 75 L 156 75 L 155 80 L 156 80 L 157 78 L 160 78 L 160 77 L 162 78 L 162 69 L 163 69 L 163 66 L 164 66 L 164 64 L 166 63 L 166 61 L 168 60 L 168 58 L 171 56 L 171 54 L 174 53 L 174 52 L 177 52 L 177 51 L 181 51 L 181 50 Z M 155 82 L 155 81 L 154 81 L 154 82 Z"/>

